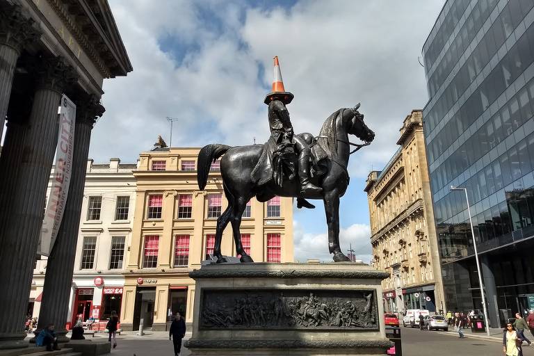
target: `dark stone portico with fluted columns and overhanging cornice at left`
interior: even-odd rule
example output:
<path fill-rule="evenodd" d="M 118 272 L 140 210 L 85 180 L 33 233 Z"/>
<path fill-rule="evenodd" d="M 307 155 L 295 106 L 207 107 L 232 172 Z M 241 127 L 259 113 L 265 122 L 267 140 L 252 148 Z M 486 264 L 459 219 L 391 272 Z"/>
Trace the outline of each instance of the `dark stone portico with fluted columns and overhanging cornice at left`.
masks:
<path fill-rule="evenodd" d="M 24 318 L 58 142 L 62 95 L 76 104 L 70 194 L 44 279 L 39 328 L 66 333 L 92 125 L 106 78 L 132 67 L 107 1 L 0 0 L 0 349 L 22 348 Z M 21 296 L 24 296 L 22 298 Z"/>

